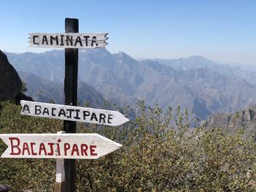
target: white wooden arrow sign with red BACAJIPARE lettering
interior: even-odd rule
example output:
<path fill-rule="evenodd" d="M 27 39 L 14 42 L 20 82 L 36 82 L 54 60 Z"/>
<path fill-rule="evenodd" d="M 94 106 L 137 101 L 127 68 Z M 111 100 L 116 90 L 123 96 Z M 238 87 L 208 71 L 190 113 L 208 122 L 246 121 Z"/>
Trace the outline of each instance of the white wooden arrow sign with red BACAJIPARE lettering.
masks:
<path fill-rule="evenodd" d="M 0 134 L 7 144 L 1 158 L 96 159 L 120 144 L 99 134 Z"/>

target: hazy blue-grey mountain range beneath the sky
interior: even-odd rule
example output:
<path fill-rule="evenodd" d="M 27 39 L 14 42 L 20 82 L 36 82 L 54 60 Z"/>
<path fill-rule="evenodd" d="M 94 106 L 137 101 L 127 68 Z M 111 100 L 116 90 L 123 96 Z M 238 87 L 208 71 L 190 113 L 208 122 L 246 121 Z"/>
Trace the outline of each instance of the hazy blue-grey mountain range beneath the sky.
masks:
<path fill-rule="evenodd" d="M 42 82 L 48 81 L 51 85 L 45 86 L 45 91 L 53 93 L 64 82 L 63 50 L 6 54 L 27 83 L 34 74 Z M 25 78 L 24 72 L 31 77 Z M 124 52 L 111 54 L 105 48 L 83 50 L 79 52 L 78 81 L 121 107 L 135 107 L 138 99 L 144 99 L 149 106 L 158 103 L 163 110 L 180 105 L 201 119 L 256 104 L 256 72 L 216 64 L 202 56 L 138 61 Z M 35 91 L 32 87 L 29 85 L 31 94 Z"/>

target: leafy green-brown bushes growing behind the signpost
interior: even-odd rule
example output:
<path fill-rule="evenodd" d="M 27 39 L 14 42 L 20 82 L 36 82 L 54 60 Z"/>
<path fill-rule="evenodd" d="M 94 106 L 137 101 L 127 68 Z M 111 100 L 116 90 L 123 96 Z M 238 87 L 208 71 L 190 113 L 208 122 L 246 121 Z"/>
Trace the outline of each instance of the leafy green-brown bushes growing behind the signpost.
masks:
<path fill-rule="evenodd" d="M 255 191 L 255 142 L 242 131 L 189 127 L 180 107 L 165 114 L 138 103 L 135 120 L 118 127 L 78 123 L 123 147 L 97 160 L 77 160 L 77 191 Z M 60 120 L 20 116 L 1 103 L 0 132 L 56 133 Z M 6 146 L 0 142 L 0 153 Z M 53 191 L 55 160 L 1 158 L 0 183 L 13 191 Z"/>

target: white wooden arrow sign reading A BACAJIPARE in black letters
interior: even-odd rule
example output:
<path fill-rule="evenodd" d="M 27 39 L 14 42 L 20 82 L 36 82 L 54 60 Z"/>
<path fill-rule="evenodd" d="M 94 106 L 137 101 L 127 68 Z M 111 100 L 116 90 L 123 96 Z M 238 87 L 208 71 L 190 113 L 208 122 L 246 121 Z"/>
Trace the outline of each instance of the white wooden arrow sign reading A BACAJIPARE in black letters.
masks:
<path fill-rule="evenodd" d="M 42 118 L 73 120 L 84 123 L 96 123 L 106 126 L 119 126 L 129 121 L 120 112 L 98 110 L 88 107 L 75 107 L 61 104 L 47 104 L 21 100 L 21 115 L 30 115 Z"/>

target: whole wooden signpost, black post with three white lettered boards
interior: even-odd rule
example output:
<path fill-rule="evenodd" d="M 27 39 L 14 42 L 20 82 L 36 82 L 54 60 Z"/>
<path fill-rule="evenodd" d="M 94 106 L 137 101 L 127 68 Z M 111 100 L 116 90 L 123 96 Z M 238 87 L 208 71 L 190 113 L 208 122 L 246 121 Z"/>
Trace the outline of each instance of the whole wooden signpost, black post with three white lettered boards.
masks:
<path fill-rule="evenodd" d="M 21 115 L 64 120 L 58 134 L 0 134 L 8 145 L 1 158 L 56 158 L 55 191 L 75 191 L 75 159 L 95 159 L 117 150 L 120 144 L 99 134 L 75 134 L 76 121 L 118 126 L 127 122 L 120 112 L 76 107 L 78 48 L 99 48 L 108 33 L 78 33 L 78 19 L 65 19 L 65 33 L 29 34 L 30 47 L 65 48 L 65 105 L 20 101 Z"/>

